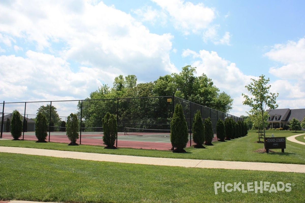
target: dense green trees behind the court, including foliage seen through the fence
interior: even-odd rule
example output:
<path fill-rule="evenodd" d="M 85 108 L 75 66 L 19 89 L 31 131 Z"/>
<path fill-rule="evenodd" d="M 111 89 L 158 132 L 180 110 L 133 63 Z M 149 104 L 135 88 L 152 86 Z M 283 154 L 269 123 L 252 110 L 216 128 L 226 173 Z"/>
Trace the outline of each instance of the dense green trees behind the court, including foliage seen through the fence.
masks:
<path fill-rule="evenodd" d="M 202 74 L 196 76 L 196 67 L 185 66 L 180 73 L 160 76 L 153 82 L 138 83 L 135 75 L 115 77 L 113 87 L 102 85 L 82 103 L 78 103 L 78 117 L 82 107 L 82 118 L 86 127 L 101 127 L 102 118 L 109 112 L 117 114 L 116 98 L 140 98 L 175 96 L 225 113 L 232 109 L 231 97 L 213 84 L 212 79 Z M 107 99 L 101 101 L 100 99 Z M 141 106 L 142 108 L 139 108 Z M 127 108 L 128 107 L 128 108 Z M 159 124 L 172 112 L 172 104 L 161 99 L 124 99 L 119 104 L 118 121 L 127 123 Z M 164 111 L 164 109 L 167 109 Z M 151 115 L 158 119 L 151 121 Z M 160 120 L 160 122 L 159 122 Z M 164 121 L 162 121 L 164 124 Z M 170 121 L 167 123 L 169 124 Z M 135 127 L 135 126 L 134 126 Z M 141 127 L 141 126 L 139 126 Z"/>

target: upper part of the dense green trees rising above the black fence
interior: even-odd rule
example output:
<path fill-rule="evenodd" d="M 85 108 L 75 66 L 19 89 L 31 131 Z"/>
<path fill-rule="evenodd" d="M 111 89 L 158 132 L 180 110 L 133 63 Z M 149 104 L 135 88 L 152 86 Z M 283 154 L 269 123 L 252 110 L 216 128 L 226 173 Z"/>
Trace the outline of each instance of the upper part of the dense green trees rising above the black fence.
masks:
<path fill-rule="evenodd" d="M 182 68 L 180 73 L 160 76 L 154 82 L 137 84 L 135 75 L 119 75 L 114 79 L 113 88 L 102 85 L 87 99 L 113 99 L 130 97 L 175 96 L 191 102 L 228 113 L 233 99 L 214 85 L 204 73 L 195 76 L 196 67 Z"/>

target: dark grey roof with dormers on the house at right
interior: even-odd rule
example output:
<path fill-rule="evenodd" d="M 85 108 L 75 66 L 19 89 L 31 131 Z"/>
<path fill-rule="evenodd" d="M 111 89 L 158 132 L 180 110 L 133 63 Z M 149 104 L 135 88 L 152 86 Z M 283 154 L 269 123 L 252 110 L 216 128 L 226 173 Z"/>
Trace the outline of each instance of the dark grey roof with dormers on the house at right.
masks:
<path fill-rule="evenodd" d="M 269 109 L 266 111 L 269 112 L 271 118 L 268 121 L 289 122 L 292 118 L 302 121 L 305 117 L 305 109 Z M 275 120 L 275 116 L 278 117 L 278 120 Z"/>

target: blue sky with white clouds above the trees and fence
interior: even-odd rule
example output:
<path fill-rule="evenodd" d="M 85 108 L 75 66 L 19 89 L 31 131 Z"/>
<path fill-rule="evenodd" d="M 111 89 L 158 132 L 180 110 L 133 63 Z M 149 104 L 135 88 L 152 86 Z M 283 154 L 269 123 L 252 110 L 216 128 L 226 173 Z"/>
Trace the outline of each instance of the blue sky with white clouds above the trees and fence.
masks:
<path fill-rule="evenodd" d="M 304 1 L 0 1 L 0 100 L 84 99 L 118 75 L 197 67 L 246 115 L 266 75 L 279 108 L 305 108 Z"/>

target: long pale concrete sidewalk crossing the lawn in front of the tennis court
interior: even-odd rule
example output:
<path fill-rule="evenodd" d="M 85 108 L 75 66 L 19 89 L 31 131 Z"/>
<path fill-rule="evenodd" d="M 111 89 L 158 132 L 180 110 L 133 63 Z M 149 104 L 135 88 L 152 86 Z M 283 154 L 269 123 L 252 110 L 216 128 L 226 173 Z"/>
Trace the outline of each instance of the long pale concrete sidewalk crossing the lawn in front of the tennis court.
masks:
<path fill-rule="evenodd" d="M 70 152 L 70 151 L 59 151 L 59 150 L 49 150 L 49 149 L 32 149 L 32 148 L 20 148 L 20 147 L 0 147 L 0 152 L 52 156 L 52 157 L 71 158 L 71 159 L 84 159 L 84 160 L 93 160 L 93 161 L 160 165 L 160 166 L 183 166 L 183 167 L 194 167 L 194 168 L 243 169 L 243 170 L 305 173 L 305 165 L 301 165 L 301 164 L 155 158 L 155 157 L 142 157 L 142 156 L 97 154 L 97 153 L 86 153 L 86 152 Z"/>

